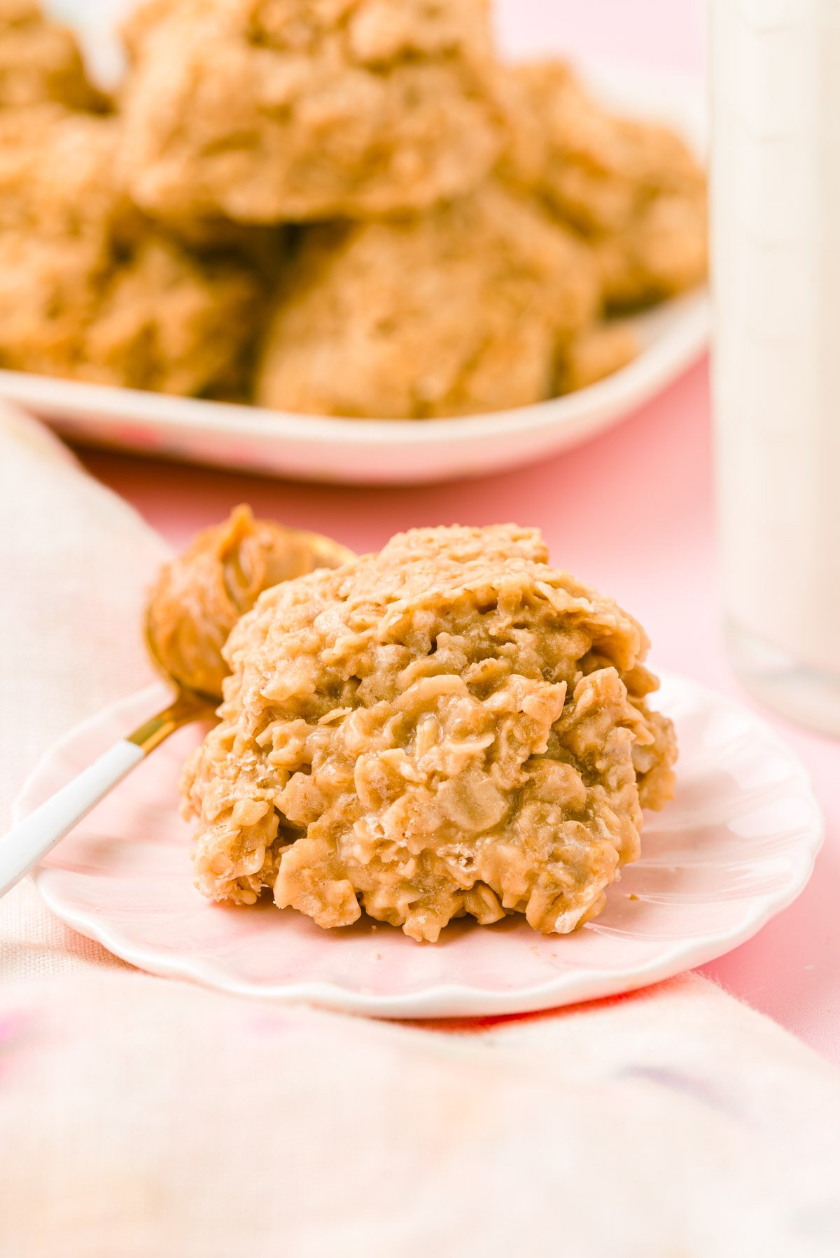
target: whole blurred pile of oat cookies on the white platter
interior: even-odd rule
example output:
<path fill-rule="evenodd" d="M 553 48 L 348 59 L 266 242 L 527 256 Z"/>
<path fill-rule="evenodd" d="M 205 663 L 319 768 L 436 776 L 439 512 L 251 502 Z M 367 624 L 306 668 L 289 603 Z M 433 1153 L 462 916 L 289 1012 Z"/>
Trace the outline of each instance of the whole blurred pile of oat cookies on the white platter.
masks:
<path fill-rule="evenodd" d="M 683 143 L 505 65 L 485 0 L 149 0 L 125 38 L 110 107 L 0 0 L 3 366 L 462 415 L 607 375 L 705 274 Z"/>

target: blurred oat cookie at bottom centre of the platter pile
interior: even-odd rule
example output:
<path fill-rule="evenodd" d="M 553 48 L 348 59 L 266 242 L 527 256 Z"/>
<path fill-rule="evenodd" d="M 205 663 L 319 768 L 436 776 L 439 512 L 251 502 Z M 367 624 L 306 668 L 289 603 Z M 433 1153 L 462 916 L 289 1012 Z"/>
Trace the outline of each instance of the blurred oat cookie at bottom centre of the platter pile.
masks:
<path fill-rule="evenodd" d="M 548 398 L 558 347 L 599 303 L 589 250 L 495 182 L 421 216 L 314 228 L 283 287 L 257 401 L 383 419 Z"/>

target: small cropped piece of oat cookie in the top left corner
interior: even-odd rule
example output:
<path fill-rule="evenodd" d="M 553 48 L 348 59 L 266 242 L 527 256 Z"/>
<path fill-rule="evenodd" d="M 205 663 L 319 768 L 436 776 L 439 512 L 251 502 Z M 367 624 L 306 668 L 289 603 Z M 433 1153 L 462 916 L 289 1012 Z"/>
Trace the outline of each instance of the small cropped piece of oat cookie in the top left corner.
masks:
<path fill-rule="evenodd" d="M 50 21 L 35 0 L 0 0 L 0 109 L 57 101 L 101 109 L 72 31 Z"/>

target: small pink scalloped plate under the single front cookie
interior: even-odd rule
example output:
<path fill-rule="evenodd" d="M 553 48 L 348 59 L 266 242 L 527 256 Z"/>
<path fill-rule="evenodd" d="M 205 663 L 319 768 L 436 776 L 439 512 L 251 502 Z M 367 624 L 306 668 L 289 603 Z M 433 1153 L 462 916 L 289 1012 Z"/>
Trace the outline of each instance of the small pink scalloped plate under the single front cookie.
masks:
<path fill-rule="evenodd" d="M 150 687 L 71 731 L 16 801 L 31 811 L 162 706 Z M 178 780 L 201 736 L 183 730 L 144 761 L 35 872 L 48 907 L 152 974 L 241 995 L 392 1018 L 524 1013 L 628 991 L 743 944 L 805 887 L 822 818 L 797 757 L 747 710 L 666 677 L 680 737 L 676 799 L 650 814 L 642 858 L 606 911 L 573 935 L 509 917 L 462 920 L 437 945 L 363 918 L 322 931 L 272 903 L 208 903 L 193 888 Z"/>

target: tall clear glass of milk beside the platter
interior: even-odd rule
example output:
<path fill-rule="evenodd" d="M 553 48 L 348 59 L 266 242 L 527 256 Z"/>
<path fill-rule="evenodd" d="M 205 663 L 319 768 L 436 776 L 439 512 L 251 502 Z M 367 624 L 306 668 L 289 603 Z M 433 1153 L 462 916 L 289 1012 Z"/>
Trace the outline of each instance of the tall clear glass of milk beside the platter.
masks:
<path fill-rule="evenodd" d="M 710 50 L 727 637 L 840 736 L 840 0 L 712 0 Z"/>

